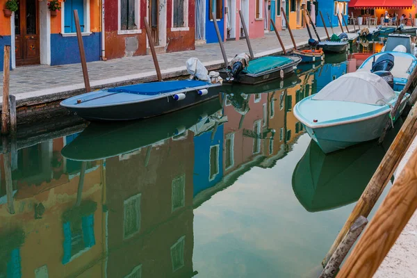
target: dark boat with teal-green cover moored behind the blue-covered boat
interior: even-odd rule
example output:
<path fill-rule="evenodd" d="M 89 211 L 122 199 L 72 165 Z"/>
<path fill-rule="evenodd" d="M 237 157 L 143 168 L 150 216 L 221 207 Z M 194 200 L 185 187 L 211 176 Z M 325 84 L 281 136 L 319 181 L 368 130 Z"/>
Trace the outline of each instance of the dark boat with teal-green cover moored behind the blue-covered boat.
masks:
<path fill-rule="evenodd" d="M 250 60 L 249 65 L 238 73 L 234 82 L 258 84 L 272 79 L 284 79 L 297 69 L 301 62 L 298 56 L 266 56 Z M 231 70 L 220 70 L 222 79 L 228 79 Z"/>

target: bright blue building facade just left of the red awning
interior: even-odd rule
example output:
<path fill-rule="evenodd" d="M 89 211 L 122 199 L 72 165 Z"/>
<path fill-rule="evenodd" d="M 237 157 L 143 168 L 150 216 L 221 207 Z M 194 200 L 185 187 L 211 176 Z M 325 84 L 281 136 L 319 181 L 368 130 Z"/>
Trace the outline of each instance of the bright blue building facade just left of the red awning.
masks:
<path fill-rule="evenodd" d="M 337 27 L 339 26 L 338 22 L 338 15 L 341 14 L 345 17 L 345 21 L 347 22 L 347 8 L 349 7 L 350 0 L 320 0 L 316 1 L 316 25 L 319 27 L 323 27 L 324 24 L 320 17 L 320 13 L 322 13 L 325 19 L 325 25 L 327 27 Z M 343 20 L 341 19 L 343 24 Z"/>

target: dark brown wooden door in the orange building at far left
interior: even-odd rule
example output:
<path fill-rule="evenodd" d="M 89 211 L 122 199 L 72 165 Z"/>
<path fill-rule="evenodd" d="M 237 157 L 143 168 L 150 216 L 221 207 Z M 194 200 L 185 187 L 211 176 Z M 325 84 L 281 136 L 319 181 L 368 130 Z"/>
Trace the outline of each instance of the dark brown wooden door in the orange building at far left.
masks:
<path fill-rule="evenodd" d="M 19 1 L 15 13 L 15 45 L 17 66 L 40 63 L 39 2 L 36 0 Z"/>

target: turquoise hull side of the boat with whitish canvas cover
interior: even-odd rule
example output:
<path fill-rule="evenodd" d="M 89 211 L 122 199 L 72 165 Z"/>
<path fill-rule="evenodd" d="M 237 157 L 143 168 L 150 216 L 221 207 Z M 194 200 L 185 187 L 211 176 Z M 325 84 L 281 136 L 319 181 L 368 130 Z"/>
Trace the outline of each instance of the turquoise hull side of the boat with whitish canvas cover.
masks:
<path fill-rule="evenodd" d="M 407 97 L 408 99 L 408 97 Z M 395 119 L 401 115 L 407 104 L 407 99 L 402 100 L 399 112 Z M 389 110 L 386 113 L 370 117 L 366 120 L 358 120 L 348 124 L 336 124 L 320 128 L 305 126 L 306 132 L 316 141 L 325 154 L 336 152 L 361 142 L 375 140 L 382 135 L 385 123 L 389 120 Z"/>

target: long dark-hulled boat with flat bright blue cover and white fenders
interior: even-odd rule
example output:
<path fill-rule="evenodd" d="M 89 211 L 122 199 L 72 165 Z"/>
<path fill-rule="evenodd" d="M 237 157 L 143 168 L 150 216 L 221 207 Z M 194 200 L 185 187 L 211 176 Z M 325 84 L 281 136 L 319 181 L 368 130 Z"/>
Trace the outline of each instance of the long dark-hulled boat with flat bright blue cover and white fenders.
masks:
<path fill-rule="evenodd" d="M 88 92 L 60 105 L 90 121 L 138 120 L 218 97 L 220 87 L 197 80 L 140 83 Z"/>

